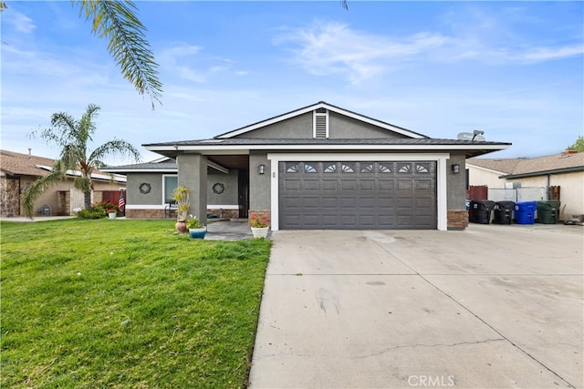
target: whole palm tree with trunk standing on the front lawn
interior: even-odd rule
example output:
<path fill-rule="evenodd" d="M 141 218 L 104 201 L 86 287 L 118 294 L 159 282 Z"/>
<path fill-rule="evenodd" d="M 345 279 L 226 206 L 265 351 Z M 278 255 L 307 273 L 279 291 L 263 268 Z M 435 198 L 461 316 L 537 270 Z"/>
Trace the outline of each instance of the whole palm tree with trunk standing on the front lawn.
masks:
<path fill-rule="evenodd" d="M 99 109 L 98 106 L 89 104 L 80 120 L 76 120 L 67 113 L 55 113 L 51 117 L 51 128 L 31 134 L 32 137 L 39 136 L 49 143 L 56 144 L 61 148 L 61 152 L 60 159 L 55 161 L 51 172 L 45 177 L 36 179 L 23 194 L 23 208 L 27 217 L 31 219 L 33 217 L 35 200 L 57 182 L 67 179 L 68 171 L 69 173 L 71 170 L 81 172 L 81 175 L 75 178 L 73 186 L 83 192 L 85 208 L 89 210 L 91 209 L 91 189 L 93 189 L 91 172 L 106 166 L 103 162 L 104 157 L 121 155 L 133 157 L 136 161 L 140 159 L 138 149 L 129 142 L 116 138 L 89 152 L 88 142 L 93 140 L 96 130 L 93 119 L 98 116 Z"/>

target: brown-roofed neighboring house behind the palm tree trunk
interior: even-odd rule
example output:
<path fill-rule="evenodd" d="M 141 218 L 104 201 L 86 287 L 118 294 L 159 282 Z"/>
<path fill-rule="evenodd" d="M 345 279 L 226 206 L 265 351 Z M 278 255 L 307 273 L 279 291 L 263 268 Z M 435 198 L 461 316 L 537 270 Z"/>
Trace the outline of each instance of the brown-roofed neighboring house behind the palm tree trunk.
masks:
<path fill-rule="evenodd" d="M 0 150 L 0 204 L 3 217 L 24 215 L 21 195 L 37 178 L 47 176 L 55 159 Z M 71 215 L 76 208 L 84 208 L 83 193 L 73 188 L 73 179 L 79 171 L 69 171 L 68 179 L 48 189 L 35 202 L 37 215 Z M 100 192 L 120 190 L 126 187 L 126 178 L 120 175 L 95 171 L 91 175 L 94 185 L 94 200 L 101 200 Z"/>

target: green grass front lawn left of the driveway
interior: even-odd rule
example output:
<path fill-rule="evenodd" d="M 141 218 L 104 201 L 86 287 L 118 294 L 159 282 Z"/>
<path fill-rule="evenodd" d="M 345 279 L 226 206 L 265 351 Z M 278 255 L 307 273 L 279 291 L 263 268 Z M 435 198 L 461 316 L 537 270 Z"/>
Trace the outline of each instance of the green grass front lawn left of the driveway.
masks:
<path fill-rule="evenodd" d="M 1 387 L 245 386 L 270 242 L 2 222 Z"/>

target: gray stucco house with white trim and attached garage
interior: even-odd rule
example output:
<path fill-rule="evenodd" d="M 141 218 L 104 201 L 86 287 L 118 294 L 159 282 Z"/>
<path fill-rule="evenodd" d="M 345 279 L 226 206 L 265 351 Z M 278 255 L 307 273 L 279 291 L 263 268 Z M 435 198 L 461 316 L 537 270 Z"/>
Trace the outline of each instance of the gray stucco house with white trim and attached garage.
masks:
<path fill-rule="evenodd" d="M 176 165 L 106 169 L 128 175 L 128 217 L 162 217 L 176 182 L 203 221 L 220 209 L 267 215 L 272 230 L 447 230 L 468 220 L 465 159 L 510 144 L 428 138 L 319 102 L 211 139 L 143 146 Z"/>

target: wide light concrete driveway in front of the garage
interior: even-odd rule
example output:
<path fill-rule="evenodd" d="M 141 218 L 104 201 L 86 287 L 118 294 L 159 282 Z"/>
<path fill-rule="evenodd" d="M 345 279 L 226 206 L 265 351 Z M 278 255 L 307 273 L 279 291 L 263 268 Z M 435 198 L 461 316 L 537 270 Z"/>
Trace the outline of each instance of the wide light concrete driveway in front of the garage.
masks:
<path fill-rule="evenodd" d="M 583 239 L 276 231 L 250 387 L 582 387 Z"/>

